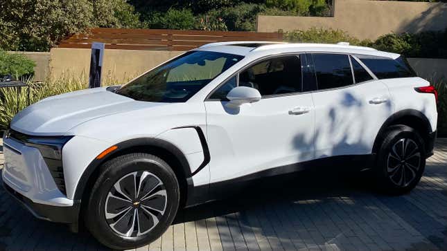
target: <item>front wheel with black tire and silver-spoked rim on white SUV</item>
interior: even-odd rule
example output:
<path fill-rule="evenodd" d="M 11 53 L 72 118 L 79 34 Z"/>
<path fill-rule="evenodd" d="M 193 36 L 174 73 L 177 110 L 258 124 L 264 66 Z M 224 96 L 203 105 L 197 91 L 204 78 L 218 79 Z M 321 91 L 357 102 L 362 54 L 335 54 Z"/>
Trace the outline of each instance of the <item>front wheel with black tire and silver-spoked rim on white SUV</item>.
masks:
<path fill-rule="evenodd" d="M 179 197 L 177 178 L 164 160 L 150 154 L 119 156 L 100 167 L 84 212 L 85 224 L 109 248 L 138 248 L 166 231 Z"/>

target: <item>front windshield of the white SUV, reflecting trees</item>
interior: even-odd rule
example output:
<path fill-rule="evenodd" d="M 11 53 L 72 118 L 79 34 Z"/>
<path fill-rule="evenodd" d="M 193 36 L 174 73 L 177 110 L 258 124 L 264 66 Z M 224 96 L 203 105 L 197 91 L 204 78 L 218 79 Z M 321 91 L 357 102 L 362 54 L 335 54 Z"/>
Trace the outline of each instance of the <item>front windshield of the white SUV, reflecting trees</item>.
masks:
<path fill-rule="evenodd" d="M 148 71 L 116 93 L 148 102 L 186 102 L 240 59 L 243 56 L 191 51 Z"/>

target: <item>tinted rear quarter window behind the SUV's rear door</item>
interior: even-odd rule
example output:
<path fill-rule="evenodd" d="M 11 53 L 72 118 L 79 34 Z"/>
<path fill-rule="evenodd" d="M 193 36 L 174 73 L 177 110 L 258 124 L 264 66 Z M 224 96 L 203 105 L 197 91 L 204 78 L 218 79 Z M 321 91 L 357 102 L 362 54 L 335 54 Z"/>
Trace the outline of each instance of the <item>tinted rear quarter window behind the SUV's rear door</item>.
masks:
<path fill-rule="evenodd" d="M 396 77 L 415 77 L 416 73 L 412 70 L 403 57 L 390 59 L 387 57 L 357 56 L 369 70 L 371 70 L 378 79 L 396 78 Z"/>

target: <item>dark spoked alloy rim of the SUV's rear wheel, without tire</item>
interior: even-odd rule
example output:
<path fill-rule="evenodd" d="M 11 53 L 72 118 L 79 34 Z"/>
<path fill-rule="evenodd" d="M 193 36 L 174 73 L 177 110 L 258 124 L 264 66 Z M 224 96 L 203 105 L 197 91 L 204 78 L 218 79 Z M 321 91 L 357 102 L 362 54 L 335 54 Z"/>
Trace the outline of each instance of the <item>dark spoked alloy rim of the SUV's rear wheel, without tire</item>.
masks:
<path fill-rule="evenodd" d="M 407 187 L 417 178 L 421 167 L 421 151 L 414 140 L 402 138 L 389 151 L 387 174 L 389 179 L 399 187 Z"/>

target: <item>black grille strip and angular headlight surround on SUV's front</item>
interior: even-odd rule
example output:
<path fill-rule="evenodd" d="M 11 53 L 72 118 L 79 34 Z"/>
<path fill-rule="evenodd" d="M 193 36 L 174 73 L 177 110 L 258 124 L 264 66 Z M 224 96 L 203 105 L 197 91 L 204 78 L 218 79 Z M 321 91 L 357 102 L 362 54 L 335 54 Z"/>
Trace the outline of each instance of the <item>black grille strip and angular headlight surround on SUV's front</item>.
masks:
<path fill-rule="evenodd" d="M 39 138 L 58 138 L 58 137 L 30 136 L 24 133 L 20 133 L 18 131 L 14 131 L 12 129 L 9 129 L 5 133 L 6 133 L 5 138 L 10 138 L 24 145 L 27 145 L 28 147 L 34 147 L 38 149 L 42 155 L 42 158 L 46 163 L 46 167 L 48 167 L 50 174 L 53 177 L 54 183 L 56 184 L 60 192 L 62 192 L 62 194 L 67 195 L 67 190 L 65 188 L 64 168 L 62 167 L 62 159 L 57 160 L 54 158 L 46 158 L 42 153 L 42 149 L 37 147 L 35 143 L 30 143 L 30 141 L 38 140 Z"/>

